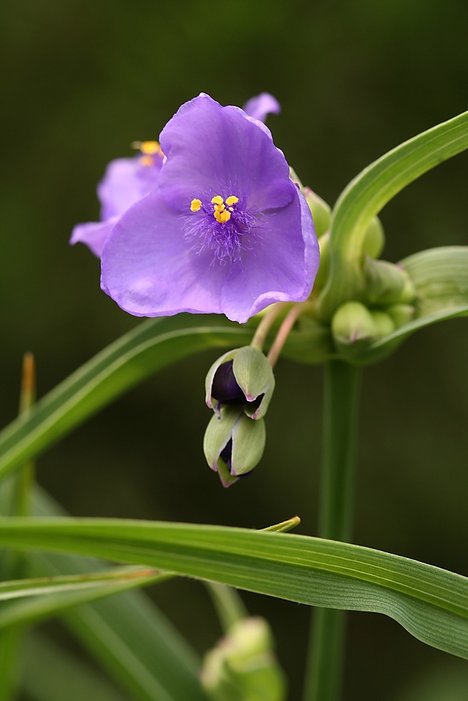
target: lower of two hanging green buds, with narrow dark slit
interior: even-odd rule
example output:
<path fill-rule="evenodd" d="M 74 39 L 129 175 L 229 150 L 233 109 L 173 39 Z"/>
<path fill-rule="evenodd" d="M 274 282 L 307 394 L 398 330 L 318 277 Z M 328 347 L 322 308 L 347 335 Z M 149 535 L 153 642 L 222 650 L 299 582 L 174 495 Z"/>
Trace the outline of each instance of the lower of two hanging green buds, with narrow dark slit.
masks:
<path fill-rule="evenodd" d="M 265 450 L 265 421 L 252 421 L 242 407 L 227 406 L 214 414 L 206 428 L 203 451 L 223 486 L 234 484 L 260 462 Z"/>

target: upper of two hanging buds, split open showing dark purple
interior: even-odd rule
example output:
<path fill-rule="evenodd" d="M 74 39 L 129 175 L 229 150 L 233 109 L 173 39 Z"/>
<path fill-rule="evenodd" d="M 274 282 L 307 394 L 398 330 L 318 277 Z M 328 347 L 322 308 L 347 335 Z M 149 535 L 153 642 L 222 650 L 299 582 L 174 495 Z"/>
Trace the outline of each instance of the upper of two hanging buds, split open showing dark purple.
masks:
<path fill-rule="evenodd" d="M 226 405 L 242 407 L 253 419 L 265 416 L 274 391 L 272 366 L 258 348 L 228 351 L 208 370 L 206 404 L 219 412 Z"/>

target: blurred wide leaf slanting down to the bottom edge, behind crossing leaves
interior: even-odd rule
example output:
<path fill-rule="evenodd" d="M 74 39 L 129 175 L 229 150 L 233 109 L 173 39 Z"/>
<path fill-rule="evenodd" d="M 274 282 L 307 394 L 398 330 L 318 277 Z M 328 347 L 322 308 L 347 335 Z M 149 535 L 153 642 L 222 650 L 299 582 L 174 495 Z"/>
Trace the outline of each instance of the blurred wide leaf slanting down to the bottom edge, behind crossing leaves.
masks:
<path fill-rule="evenodd" d="M 62 512 L 36 487 L 36 515 Z M 101 561 L 80 555 L 30 550 L 26 557 L 35 576 L 102 567 Z M 62 617 L 133 701 L 206 701 L 198 656 L 145 592 L 134 590 L 100 599 L 65 611 Z"/>

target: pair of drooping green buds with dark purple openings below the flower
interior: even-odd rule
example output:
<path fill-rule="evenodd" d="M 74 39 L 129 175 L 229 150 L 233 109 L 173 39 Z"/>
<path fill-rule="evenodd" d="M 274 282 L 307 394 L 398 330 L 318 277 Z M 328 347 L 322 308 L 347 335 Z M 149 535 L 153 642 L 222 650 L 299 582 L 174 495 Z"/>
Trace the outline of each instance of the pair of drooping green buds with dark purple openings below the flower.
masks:
<path fill-rule="evenodd" d="M 265 449 L 264 416 L 274 391 L 272 366 L 258 348 L 228 351 L 206 376 L 206 404 L 214 414 L 203 451 L 223 486 L 253 470 Z"/>

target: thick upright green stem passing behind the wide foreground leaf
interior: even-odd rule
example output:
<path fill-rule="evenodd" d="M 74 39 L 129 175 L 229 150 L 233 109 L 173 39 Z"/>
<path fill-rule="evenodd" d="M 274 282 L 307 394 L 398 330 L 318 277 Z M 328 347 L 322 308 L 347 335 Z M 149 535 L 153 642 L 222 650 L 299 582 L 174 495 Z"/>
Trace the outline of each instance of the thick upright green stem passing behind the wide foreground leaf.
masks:
<path fill-rule="evenodd" d="M 319 536 L 350 540 L 361 371 L 342 360 L 325 367 Z M 304 701 L 338 701 L 344 657 L 345 611 L 316 608 Z"/>

